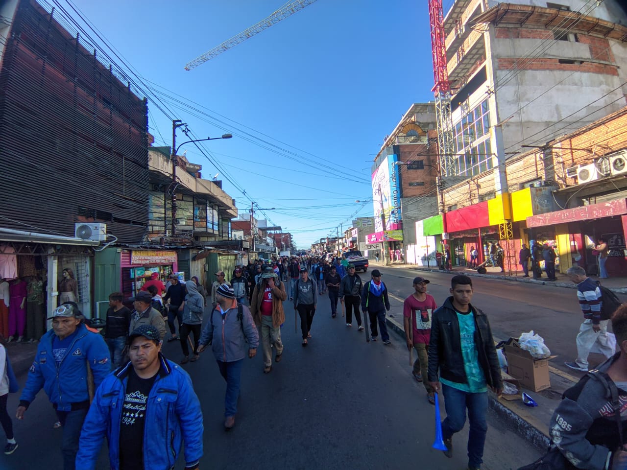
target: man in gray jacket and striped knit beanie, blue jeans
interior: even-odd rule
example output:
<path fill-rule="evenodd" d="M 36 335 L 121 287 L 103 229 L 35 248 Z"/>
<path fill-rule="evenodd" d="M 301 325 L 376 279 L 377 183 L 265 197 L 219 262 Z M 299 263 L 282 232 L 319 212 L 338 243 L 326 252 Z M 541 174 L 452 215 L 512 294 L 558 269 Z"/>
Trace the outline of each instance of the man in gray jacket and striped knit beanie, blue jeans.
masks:
<path fill-rule="evenodd" d="M 241 367 L 248 342 L 248 357 L 253 358 L 259 345 L 259 333 L 246 305 L 238 305 L 233 288 L 223 284 L 216 289 L 218 303 L 211 310 L 209 321 L 200 338 L 198 352 L 211 343 L 220 373 L 226 380 L 224 396 L 224 428 L 235 424 L 237 400 L 240 396 Z"/>

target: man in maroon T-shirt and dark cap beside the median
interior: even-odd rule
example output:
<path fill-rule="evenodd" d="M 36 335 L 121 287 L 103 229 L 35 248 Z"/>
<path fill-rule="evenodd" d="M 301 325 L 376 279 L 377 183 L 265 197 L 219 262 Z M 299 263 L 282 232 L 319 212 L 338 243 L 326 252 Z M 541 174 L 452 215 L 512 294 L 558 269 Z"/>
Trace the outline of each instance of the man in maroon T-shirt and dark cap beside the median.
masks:
<path fill-rule="evenodd" d="M 414 379 L 423 382 L 427 375 L 429 357 L 429 337 L 431 336 L 431 313 L 437 308 L 433 296 L 427 293 L 429 279 L 418 276 L 414 278 L 414 293 L 405 299 L 403 303 L 403 325 L 407 348 L 416 349 L 416 362 L 412 372 Z M 424 388 L 427 389 L 427 399 L 430 404 L 435 404 L 433 388 L 424 380 Z"/>

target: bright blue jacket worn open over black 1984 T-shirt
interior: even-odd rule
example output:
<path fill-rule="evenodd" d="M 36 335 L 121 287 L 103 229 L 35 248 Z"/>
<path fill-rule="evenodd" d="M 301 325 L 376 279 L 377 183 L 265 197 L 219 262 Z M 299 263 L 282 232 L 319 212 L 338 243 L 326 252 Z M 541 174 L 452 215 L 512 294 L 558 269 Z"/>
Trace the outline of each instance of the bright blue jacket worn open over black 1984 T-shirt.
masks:
<path fill-rule="evenodd" d="M 174 468 L 183 441 L 186 465 L 191 467 L 203 456 L 203 412 L 187 372 L 161 353 L 159 359 L 161 368 L 146 407 L 144 468 Z M 98 387 L 83 424 L 76 455 L 77 470 L 95 469 L 105 436 L 110 467 L 119 470 L 120 422 L 130 367 L 132 364 L 127 362 Z"/>

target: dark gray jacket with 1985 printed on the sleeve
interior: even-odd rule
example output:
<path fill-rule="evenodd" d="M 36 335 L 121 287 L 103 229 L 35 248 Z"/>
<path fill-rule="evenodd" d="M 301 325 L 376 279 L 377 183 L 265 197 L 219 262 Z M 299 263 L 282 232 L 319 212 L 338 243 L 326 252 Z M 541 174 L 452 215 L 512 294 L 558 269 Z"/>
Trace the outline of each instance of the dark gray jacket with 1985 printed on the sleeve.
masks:
<path fill-rule="evenodd" d="M 611 468 L 611 452 L 620 444 L 609 387 L 599 373 L 607 372 L 619 355 L 620 352 L 616 353 L 566 390 L 551 418 L 551 442 L 577 468 Z M 627 441 L 627 390 L 618 389 L 618 397 L 624 444 Z"/>

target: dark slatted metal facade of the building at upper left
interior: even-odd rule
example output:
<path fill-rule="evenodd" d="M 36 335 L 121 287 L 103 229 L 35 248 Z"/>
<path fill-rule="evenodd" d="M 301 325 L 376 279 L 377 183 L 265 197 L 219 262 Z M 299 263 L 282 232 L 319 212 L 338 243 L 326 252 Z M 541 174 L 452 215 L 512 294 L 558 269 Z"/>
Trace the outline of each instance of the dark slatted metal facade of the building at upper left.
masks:
<path fill-rule="evenodd" d="M 30 0 L 0 71 L 0 167 L 2 226 L 73 236 L 82 215 L 122 243 L 144 235 L 146 103 Z"/>

